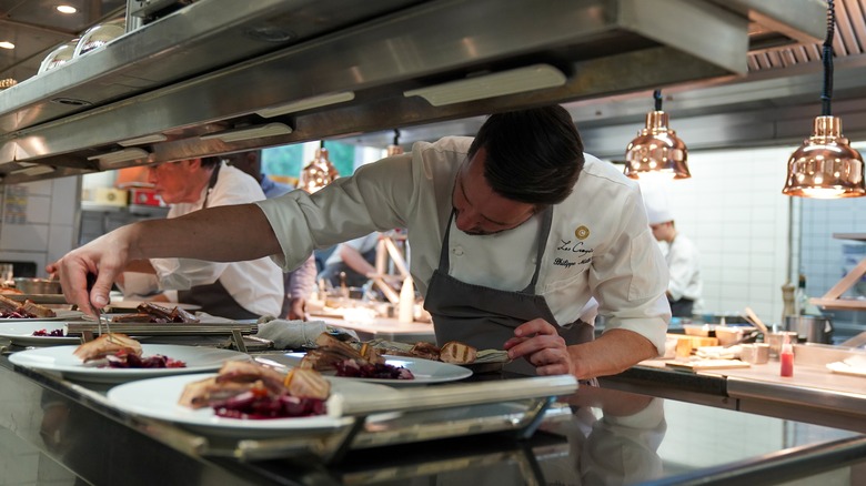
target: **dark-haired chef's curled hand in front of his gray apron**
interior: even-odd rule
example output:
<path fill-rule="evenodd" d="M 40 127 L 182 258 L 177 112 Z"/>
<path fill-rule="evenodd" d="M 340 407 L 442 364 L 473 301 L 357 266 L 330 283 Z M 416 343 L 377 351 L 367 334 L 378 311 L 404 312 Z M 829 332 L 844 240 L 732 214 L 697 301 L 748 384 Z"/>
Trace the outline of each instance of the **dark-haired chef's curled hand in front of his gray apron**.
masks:
<path fill-rule="evenodd" d="M 572 372 L 565 340 L 543 318 L 523 323 L 514 330 L 514 337 L 505 342 L 508 358 L 523 357 L 535 366 L 538 375 L 563 375 Z"/>

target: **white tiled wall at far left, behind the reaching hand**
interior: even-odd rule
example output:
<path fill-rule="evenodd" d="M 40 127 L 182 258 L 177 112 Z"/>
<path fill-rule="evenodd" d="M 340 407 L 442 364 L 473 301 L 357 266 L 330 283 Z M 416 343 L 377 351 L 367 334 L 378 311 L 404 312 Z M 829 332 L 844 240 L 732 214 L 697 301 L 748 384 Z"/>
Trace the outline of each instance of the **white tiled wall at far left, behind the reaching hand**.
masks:
<path fill-rule="evenodd" d="M 0 204 L 0 261 L 34 262 L 37 275 L 75 245 L 80 179 L 4 185 Z"/>

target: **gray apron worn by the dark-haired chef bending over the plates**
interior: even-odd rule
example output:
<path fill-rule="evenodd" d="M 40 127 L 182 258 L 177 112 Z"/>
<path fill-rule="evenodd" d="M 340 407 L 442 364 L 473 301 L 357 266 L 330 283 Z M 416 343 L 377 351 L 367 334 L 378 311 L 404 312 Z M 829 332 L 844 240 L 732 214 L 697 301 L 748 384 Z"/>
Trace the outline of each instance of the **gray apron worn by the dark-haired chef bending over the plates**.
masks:
<path fill-rule="evenodd" d="M 449 235 L 454 212 L 451 212 L 439 269 L 433 272 L 424 298 L 424 308 L 433 316 L 436 342 L 441 346 L 449 341 L 460 341 L 479 350 L 502 350 L 502 345 L 514 337 L 514 328 L 534 318 L 543 318 L 556 326 L 556 320 L 543 295 L 535 294 L 544 247 L 551 233 L 553 209 L 542 213 L 538 229 L 538 250 L 535 273 L 522 291 L 500 291 L 483 285 L 461 282 L 449 275 Z M 557 327 L 567 345 L 593 340 L 593 326 L 580 320 Z M 535 366 L 526 360 L 515 360 L 505 365 L 505 371 L 523 375 L 535 375 Z"/>

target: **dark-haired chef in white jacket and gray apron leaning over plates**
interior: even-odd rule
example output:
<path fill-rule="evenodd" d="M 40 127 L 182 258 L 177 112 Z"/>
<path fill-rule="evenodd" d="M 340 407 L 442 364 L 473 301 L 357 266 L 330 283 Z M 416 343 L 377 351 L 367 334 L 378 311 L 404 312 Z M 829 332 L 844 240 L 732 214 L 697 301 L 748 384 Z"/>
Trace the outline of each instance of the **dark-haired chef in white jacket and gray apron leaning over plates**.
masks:
<path fill-rule="evenodd" d="M 516 372 L 578 378 L 664 352 L 667 269 L 640 189 L 583 153 L 558 105 L 491 115 L 474 139 L 419 142 L 314 194 L 133 223 L 54 266 L 67 298 L 88 308 L 105 304 L 131 259 L 272 255 L 291 269 L 316 247 L 393 227 L 407 230 L 439 344 L 504 348 Z M 593 297 L 606 317 L 595 340 L 581 318 Z"/>

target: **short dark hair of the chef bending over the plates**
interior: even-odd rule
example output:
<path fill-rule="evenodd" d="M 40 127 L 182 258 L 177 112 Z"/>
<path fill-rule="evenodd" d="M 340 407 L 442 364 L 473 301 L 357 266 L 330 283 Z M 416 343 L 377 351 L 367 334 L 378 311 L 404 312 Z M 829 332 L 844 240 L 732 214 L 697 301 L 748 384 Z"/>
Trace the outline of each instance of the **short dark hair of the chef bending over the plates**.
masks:
<path fill-rule="evenodd" d="M 486 150 L 484 178 L 494 192 L 538 206 L 572 193 L 583 169 L 583 142 L 572 117 L 560 105 L 491 115 L 469 151 Z"/>

